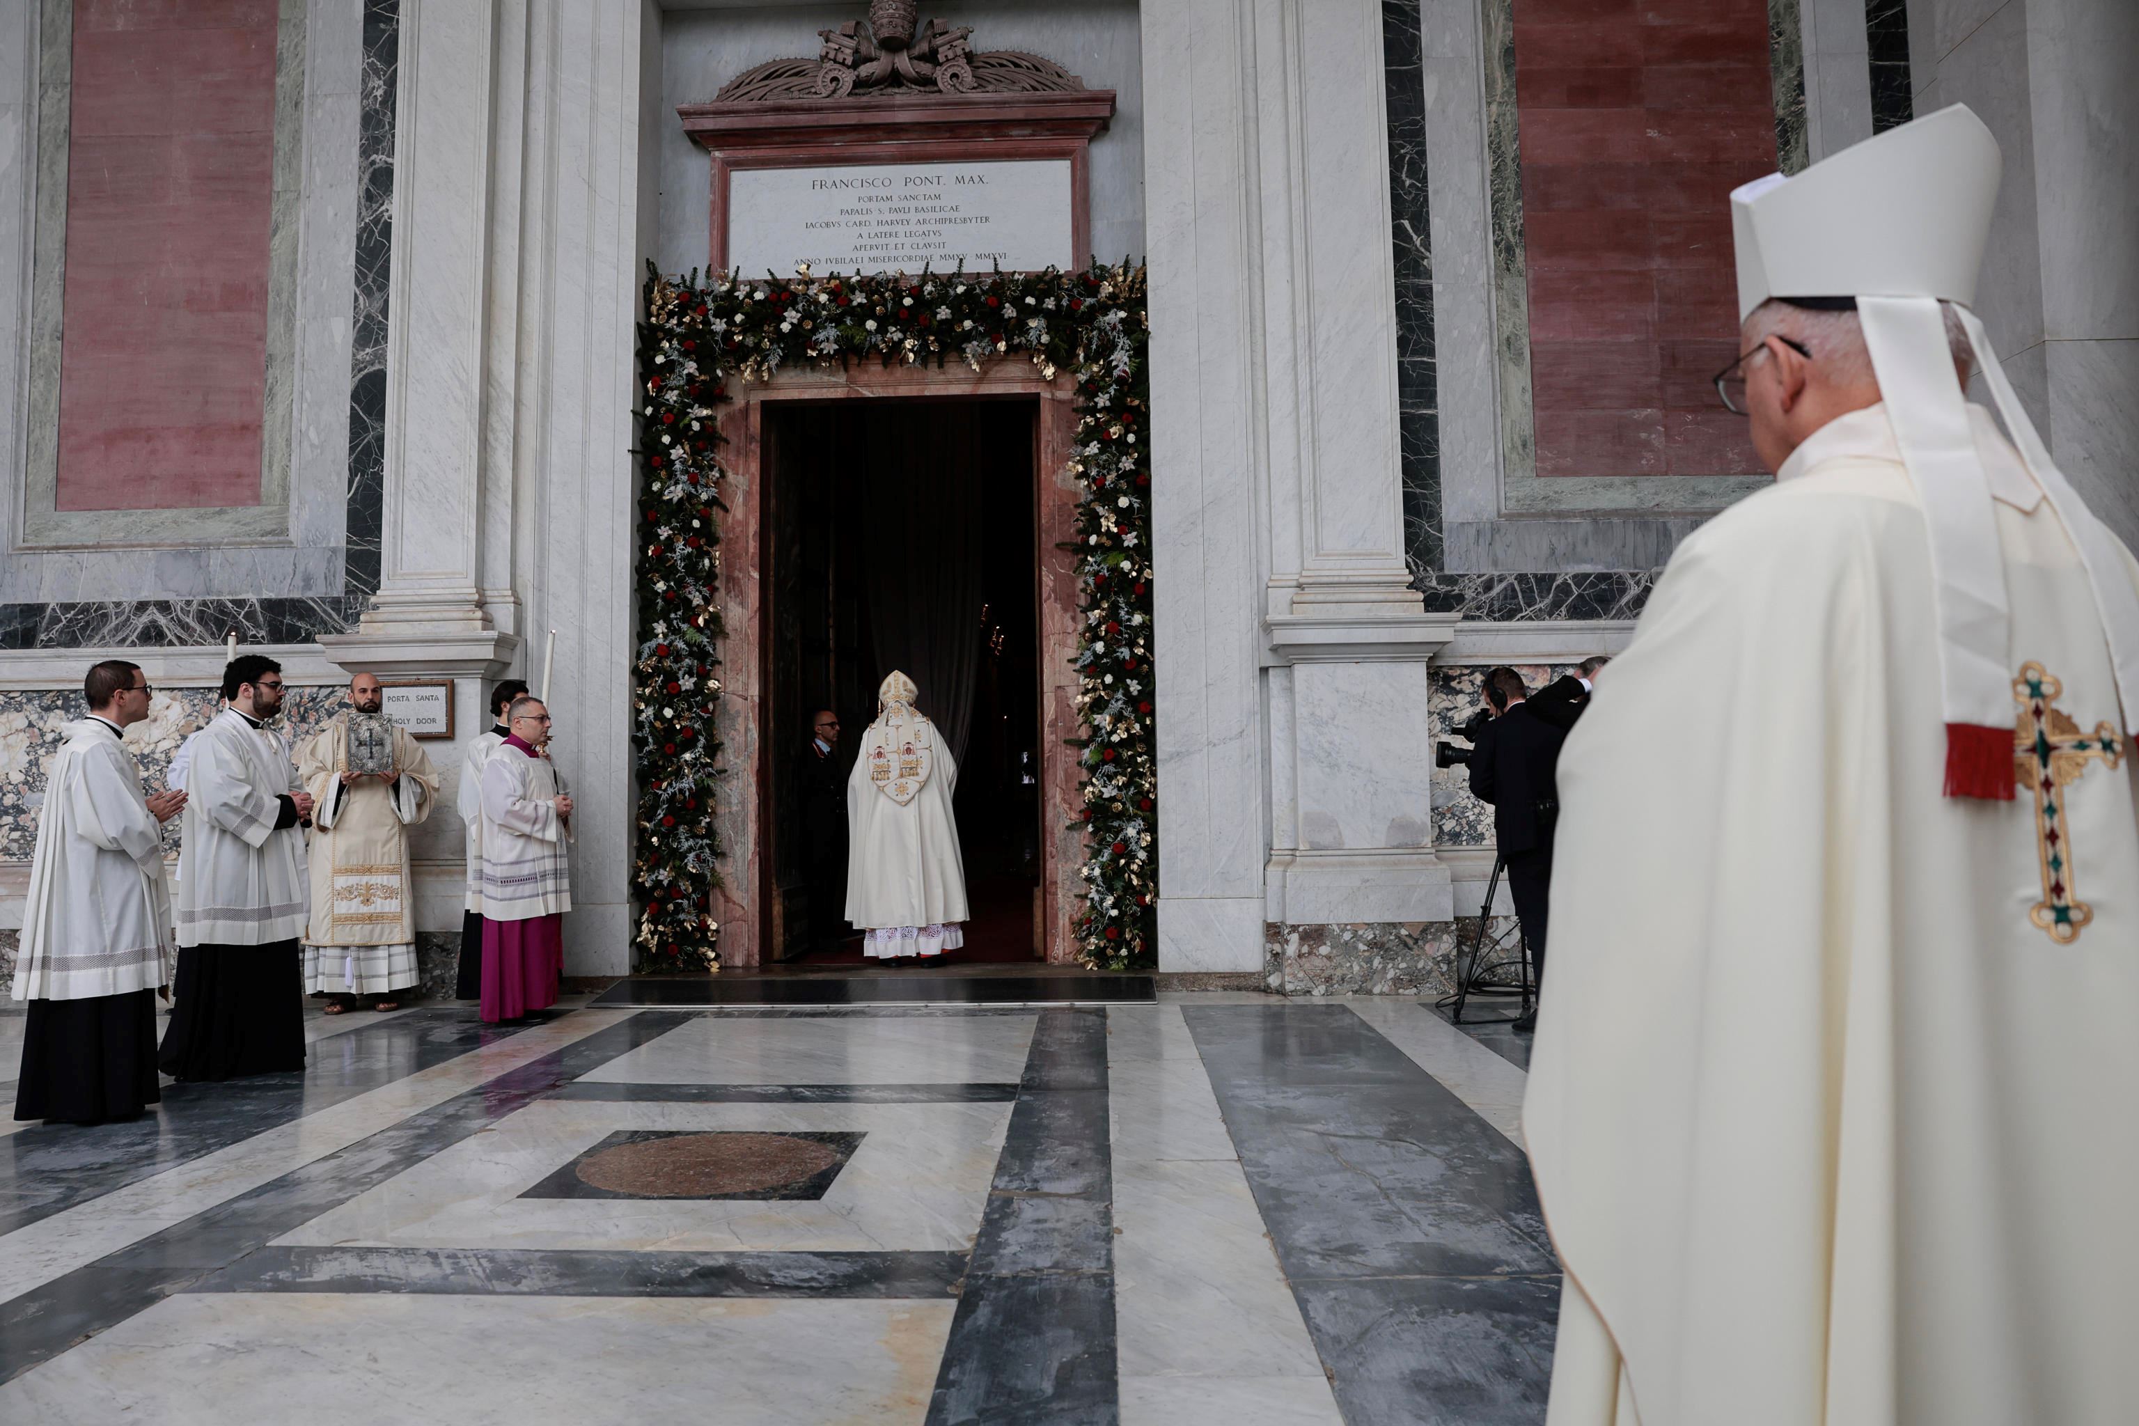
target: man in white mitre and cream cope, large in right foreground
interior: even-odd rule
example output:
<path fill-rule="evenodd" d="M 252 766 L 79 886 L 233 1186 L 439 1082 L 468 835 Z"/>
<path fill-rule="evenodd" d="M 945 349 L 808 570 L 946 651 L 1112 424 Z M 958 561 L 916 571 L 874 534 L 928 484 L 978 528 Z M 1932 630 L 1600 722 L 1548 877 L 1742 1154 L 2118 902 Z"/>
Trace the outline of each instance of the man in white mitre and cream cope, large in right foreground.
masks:
<path fill-rule="evenodd" d="M 1551 1426 L 2139 1411 L 2139 564 L 1970 312 L 1998 167 L 1951 107 L 1733 195 L 1778 483 L 1559 761 Z"/>

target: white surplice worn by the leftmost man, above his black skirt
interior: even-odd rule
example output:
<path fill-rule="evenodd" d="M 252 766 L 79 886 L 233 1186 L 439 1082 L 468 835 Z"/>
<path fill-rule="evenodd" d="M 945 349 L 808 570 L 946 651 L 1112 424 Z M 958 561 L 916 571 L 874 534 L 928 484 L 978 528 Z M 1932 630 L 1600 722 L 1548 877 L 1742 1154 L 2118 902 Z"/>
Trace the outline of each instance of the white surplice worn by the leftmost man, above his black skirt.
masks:
<path fill-rule="evenodd" d="M 86 1001 L 169 981 L 178 954 L 163 836 L 141 770 L 101 718 L 66 725 L 30 859 L 17 1001 Z"/>

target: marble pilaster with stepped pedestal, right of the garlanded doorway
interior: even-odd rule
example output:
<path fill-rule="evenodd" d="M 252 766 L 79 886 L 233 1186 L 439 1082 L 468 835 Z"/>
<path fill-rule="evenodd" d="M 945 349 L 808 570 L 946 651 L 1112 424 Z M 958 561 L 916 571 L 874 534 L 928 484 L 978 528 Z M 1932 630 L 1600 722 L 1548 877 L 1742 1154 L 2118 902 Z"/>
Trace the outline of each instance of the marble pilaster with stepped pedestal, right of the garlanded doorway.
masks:
<path fill-rule="evenodd" d="M 1358 83 L 1382 36 L 1375 0 L 1256 17 L 1273 943 L 1450 917 L 1427 661 L 1455 618 L 1422 611 L 1403 560 L 1388 92 Z"/>

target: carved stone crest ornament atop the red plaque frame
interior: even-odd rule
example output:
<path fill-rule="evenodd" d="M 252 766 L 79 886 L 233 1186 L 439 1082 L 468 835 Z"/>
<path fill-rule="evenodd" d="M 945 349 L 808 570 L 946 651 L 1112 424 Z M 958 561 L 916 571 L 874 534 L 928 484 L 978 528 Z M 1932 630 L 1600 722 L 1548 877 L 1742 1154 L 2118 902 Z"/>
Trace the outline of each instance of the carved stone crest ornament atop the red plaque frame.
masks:
<path fill-rule="evenodd" d="M 918 0 L 873 0 L 868 19 L 819 30 L 815 60 L 770 60 L 736 75 L 717 103 L 847 98 L 860 94 L 1063 94 L 1084 81 L 1052 60 L 1018 49 L 973 49 L 969 26 L 930 19 L 915 28 Z"/>

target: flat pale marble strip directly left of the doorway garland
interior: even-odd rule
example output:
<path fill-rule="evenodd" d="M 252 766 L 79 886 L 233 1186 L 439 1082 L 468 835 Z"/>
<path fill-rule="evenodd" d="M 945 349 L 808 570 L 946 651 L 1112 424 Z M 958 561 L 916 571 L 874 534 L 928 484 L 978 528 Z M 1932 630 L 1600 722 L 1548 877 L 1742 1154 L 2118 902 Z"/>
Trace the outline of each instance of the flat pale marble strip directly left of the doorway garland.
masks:
<path fill-rule="evenodd" d="M 620 0 L 528 4 L 515 440 L 533 490 L 522 496 L 522 667 L 539 678 L 541 641 L 556 629 L 554 757 L 578 802 L 567 975 L 631 968 L 642 24 L 644 9 Z"/>

